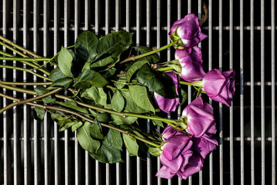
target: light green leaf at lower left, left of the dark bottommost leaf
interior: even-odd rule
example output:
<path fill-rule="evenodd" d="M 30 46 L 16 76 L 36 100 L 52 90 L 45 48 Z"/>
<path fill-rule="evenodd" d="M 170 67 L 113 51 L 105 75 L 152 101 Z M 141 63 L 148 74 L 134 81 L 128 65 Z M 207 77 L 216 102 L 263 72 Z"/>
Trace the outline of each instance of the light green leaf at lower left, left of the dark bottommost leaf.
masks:
<path fill-rule="evenodd" d="M 82 146 L 84 150 L 87 150 L 90 153 L 95 153 L 97 152 L 98 148 L 100 148 L 100 142 L 91 138 L 89 134 L 90 126 L 91 123 L 87 121 L 84 122 L 84 125 L 82 125 L 82 127 L 78 128 L 77 130 L 77 139 L 80 143 L 80 146 Z"/>

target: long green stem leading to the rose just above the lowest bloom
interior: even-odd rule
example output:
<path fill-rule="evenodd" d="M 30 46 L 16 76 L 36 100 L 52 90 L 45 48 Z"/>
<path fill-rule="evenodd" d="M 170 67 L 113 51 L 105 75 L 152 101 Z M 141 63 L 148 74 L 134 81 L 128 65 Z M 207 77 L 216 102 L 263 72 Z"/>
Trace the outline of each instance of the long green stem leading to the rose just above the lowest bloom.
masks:
<path fill-rule="evenodd" d="M 0 84 L 0 87 L 10 89 L 12 91 L 19 91 L 19 92 L 26 93 L 26 94 L 32 94 L 32 95 L 36 94 L 35 91 L 31 91 L 31 90 L 26 91 L 26 89 L 21 89 L 21 88 L 18 88 L 18 87 L 12 87 L 12 86 L 9 86 L 9 85 L 1 85 Z M 150 119 L 150 120 L 163 121 L 163 122 L 168 123 L 168 124 L 171 123 L 172 125 L 175 124 L 174 120 L 171 120 L 171 119 L 168 119 L 168 118 L 161 118 L 159 116 L 146 116 L 146 115 L 141 115 L 141 114 L 134 114 L 132 112 L 116 112 L 116 111 L 111 110 L 111 109 L 105 109 L 105 108 L 89 105 L 89 104 L 86 104 L 86 103 L 82 103 L 78 100 L 73 100 L 73 99 L 71 99 L 67 96 L 63 96 L 63 95 L 60 95 L 60 94 L 55 94 L 55 97 L 61 98 L 63 100 L 71 100 L 71 101 L 74 101 L 75 103 L 77 103 L 78 105 L 82 105 L 83 107 L 87 107 L 87 108 L 90 108 L 90 109 L 95 109 L 95 110 L 102 111 L 102 112 L 107 112 L 107 113 L 110 113 L 110 114 L 116 114 L 118 116 L 123 116 L 123 117 L 131 116 L 131 117 L 136 117 L 136 118 L 145 118 L 145 119 Z"/>

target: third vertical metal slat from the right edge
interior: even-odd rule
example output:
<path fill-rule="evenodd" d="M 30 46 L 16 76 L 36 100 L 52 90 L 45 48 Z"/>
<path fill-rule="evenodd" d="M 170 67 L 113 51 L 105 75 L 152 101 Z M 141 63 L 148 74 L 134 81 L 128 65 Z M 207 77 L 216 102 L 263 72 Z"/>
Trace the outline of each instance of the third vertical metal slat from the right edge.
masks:
<path fill-rule="evenodd" d="M 254 0 L 250 1 L 250 98 L 251 98 L 251 184 L 255 183 L 255 158 L 254 158 Z"/>

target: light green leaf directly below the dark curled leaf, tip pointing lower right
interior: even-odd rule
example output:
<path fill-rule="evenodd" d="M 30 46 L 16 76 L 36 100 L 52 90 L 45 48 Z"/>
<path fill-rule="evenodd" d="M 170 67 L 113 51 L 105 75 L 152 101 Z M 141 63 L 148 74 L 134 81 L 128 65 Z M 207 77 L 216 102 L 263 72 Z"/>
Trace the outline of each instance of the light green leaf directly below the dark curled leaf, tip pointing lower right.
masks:
<path fill-rule="evenodd" d="M 155 109 L 148 98 L 148 92 L 146 87 L 141 85 L 130 85 L 129 92 L 136 105 L 138 105 L 142 109 L 155 112 Z"/>

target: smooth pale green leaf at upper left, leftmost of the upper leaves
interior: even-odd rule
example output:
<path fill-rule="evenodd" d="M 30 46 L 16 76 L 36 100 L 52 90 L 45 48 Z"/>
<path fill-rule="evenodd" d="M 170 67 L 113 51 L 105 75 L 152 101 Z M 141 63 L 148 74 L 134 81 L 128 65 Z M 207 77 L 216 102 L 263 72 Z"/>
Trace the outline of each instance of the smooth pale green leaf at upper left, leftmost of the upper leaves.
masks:
<path fill-rule="evenodd" d="M 57 56 L 57 63 L 59 64 L 62 73 L 70 78 L 73 78 L 73 74 L 71 73 L 72 60 L 73 57 L 71 53 L 62 47 L 60 54 Z"/>

